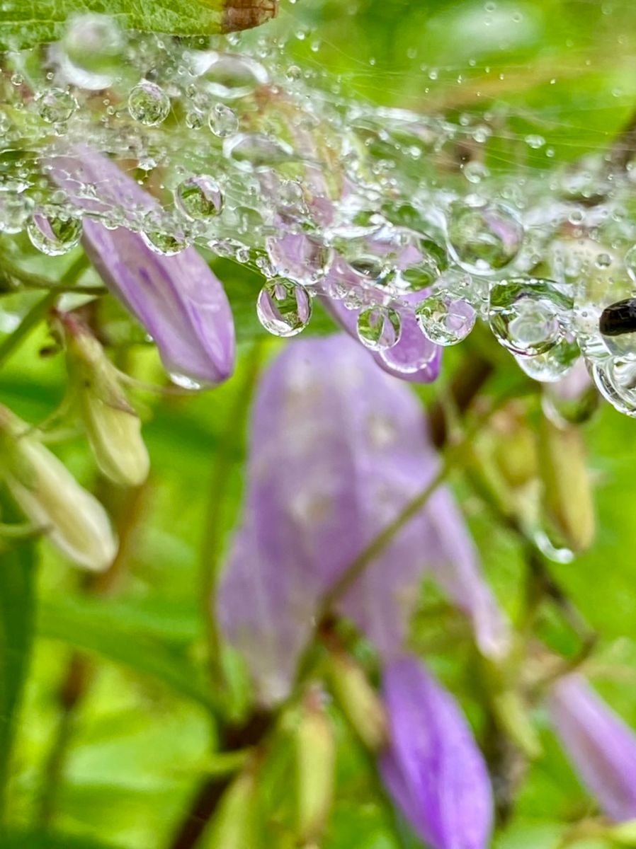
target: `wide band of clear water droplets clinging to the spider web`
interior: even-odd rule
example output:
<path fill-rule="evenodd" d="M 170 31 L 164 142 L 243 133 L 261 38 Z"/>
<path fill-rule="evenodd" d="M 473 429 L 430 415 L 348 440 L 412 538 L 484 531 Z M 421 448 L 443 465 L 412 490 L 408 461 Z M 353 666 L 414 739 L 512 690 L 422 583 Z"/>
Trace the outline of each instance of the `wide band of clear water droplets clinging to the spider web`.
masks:
<path fill-rule="evenodd" d="M 599 154 L 495 173 L 488 113 L 451 123 L 348 101 L 284 45 L 252 44 L 131 35 L 90 14 L 59 43 L 6 54 L 0 233 L 58 256 L 88 216 L 166 256 L 198 245 L 263 275 L 255 302 L 271 333 L 302 331 L 315 298 L 338 301 L 405 374 L 422 364 L 397 353 L 406 318 L 438 346 L 479 319 L 536 380 L 582 354 L 605 397 L 636 414 L 636 333 L 599 329 L 606 307 L 636 297 L 629 171 L 609 174 Z M 87 149 L 151 200 L 99 180 L 63 188 L 52 163 Z"/>

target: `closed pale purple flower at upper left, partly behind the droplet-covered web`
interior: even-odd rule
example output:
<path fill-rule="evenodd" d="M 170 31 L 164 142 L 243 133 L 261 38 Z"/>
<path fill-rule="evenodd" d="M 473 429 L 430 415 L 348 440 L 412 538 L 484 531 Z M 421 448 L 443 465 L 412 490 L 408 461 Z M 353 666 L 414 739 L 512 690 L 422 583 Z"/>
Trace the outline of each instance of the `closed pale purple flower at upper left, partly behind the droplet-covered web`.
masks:
<path fill-rule="evenodd" d="M 157 201 L 107 157 L 88 149 L 56 157 L 51 170 L 82 211 L 109 205 L 152 216 Z M 86 186 L 98 187 L 99 198 Z M 194 248 L 162 256 L 139 233 L 105 228 L 88 216 L 82 244 L 106 286 L 133 312 L 156 342 L 168 372 L 202 384 L 218 384 L 233 371 L 234 323 L 223 286 Z"/>

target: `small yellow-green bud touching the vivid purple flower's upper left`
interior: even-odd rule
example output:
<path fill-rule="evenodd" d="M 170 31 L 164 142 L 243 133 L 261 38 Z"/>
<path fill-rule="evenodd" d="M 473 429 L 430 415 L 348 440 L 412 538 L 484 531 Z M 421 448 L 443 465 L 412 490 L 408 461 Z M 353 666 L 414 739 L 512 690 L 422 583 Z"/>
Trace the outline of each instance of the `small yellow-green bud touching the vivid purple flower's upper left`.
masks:
<path fill-rule="evenodd" d="M 329 682 L 338 706 L 366 748 L 379 751 L 388 735 L 387 717 L 361 667 L 336 649 L 329 659 Z"/>

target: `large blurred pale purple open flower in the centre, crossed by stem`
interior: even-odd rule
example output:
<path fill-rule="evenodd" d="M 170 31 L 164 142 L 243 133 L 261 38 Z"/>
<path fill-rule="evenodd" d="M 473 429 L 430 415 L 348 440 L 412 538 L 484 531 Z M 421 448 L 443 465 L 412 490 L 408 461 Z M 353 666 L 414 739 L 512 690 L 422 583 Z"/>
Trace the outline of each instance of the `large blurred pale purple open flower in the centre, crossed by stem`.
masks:
<path fill-rule="evenodd" d="M 247 658 L 262 700 L 288 693 L 321 598 L 438 468 L 415 396 L 346 336 L 299 340 L 264 374 L 246 519 L 218 597 L 224 632 Z M 442 489 L 340 604 L 383 661 L 403 649 L 427 566 L 478 623 L 486 650 L 507 639 L 461 514 Z"/>

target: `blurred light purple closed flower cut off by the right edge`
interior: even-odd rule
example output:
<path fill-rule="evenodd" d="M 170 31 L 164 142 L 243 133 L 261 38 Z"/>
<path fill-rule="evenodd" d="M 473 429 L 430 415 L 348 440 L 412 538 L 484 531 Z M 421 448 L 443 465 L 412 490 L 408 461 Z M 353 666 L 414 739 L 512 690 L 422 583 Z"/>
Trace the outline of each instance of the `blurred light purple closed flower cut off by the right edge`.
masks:
<path fill-rule="evenodd" d="M 617 822 L 636 818 L 636 734 L 579 675 L 554 684 L 554 726 L 584 784 Z"/>

